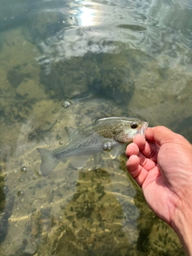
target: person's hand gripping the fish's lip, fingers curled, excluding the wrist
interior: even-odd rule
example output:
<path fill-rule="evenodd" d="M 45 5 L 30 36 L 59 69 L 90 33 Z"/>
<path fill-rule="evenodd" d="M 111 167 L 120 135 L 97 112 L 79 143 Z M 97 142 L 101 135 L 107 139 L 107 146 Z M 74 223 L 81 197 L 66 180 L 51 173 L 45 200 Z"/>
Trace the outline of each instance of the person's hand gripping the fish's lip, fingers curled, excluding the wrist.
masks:
<path fill-rule="evenodd" d="M 175 206 L 192 198 L 192 146 L 164 126 L 148 128 L 146 139 L 136 135 L 127 146 L 126 167 L 142 187 L 146 202 L 159 218 L 170 224 Z"/>

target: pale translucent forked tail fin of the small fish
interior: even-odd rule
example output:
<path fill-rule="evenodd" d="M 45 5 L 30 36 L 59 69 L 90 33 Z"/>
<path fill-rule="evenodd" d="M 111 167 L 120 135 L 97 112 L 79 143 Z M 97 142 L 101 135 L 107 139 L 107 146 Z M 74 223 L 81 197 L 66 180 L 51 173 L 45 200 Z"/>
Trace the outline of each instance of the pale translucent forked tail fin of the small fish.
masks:
<path fill-rule="evenodd" d="M 59 160 L 54 157 L 54 154 L 50 150 L 37 148 L 38 152 L 41 154 L 42 163 L 40 169 L 43 176 L 47 176 L 54 170 L 55 166 L 58 165 Z"/>

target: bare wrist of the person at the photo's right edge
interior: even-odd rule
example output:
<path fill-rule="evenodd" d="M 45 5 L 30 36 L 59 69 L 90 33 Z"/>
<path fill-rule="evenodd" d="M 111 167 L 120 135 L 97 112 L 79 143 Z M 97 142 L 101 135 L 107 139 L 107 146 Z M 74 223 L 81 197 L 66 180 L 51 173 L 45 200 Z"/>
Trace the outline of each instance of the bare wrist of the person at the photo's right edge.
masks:
<path fill-rule="evenodd" d="M 178 234 L 178 238 L 182 242 L 186 254 L 192 255 L 192 204 L 190 203 L 190 199 L 189 201 L 186 200 L 186 202 L 179 202 L 175 206 L 174 216 L 170 222 L 170 226 Z"/>

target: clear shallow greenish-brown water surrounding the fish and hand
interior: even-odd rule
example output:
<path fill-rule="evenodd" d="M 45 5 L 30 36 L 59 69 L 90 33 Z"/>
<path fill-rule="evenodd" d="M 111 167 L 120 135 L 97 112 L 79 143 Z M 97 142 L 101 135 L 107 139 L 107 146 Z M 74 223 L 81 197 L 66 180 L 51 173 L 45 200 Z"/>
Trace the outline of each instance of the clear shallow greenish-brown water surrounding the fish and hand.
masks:
<path fill-rule="evenodd" d="M 42 178 L 36 148 L 111 115 L 192 142 L 190 0 L 1 3 L 0 254 L 184 254 L 123 154 L 80 171 L 61 162 Z"/>

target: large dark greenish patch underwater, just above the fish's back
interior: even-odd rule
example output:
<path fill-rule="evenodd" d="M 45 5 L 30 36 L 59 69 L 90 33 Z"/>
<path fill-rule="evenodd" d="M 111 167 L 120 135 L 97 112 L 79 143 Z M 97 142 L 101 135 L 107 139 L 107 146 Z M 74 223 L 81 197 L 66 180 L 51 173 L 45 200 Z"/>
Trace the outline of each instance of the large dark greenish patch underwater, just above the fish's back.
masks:
<path fill-rule="evenodd" d="M 102 95 L 127 104 L 134 92 L 134 81 L 130 70 L 123 66 L 114 68 L 113 62 L 112 54 L 85 54 L 82 58 L 56 62 L 50 74 L 42 74 L 41 82 L 49 89 L 46 93 L 50 98 L 62 100 L 65 95 L 78 96 L 84 90 L 94 98 Z"/>

